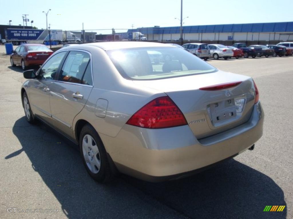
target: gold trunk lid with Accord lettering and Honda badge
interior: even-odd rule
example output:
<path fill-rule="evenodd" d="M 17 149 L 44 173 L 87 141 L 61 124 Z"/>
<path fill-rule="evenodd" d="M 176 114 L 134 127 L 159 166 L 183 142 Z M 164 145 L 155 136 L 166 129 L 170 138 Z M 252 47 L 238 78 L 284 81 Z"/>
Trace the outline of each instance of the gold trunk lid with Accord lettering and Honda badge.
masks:
<path fill-rule="evenodd" d="M 200 89 L 235 81 L 241 83 L 220 90 Z M 222 71 L 133 83 L 166 93 L 182 111 L 197 139 L 245 123 L 254 105 L 255 88 L 252 79 Z"/>

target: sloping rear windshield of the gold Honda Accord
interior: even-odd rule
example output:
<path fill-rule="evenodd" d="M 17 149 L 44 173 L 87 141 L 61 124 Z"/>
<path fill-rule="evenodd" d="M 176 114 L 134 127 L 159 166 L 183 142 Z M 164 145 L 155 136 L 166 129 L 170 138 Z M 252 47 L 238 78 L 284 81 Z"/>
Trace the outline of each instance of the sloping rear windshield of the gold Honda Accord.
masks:
<path fill-rule="evenodd" d="M 154 80 L 216 72 L 195 55 L 175 47 L 131 48 L 107 51 L 122 77 Z"/>

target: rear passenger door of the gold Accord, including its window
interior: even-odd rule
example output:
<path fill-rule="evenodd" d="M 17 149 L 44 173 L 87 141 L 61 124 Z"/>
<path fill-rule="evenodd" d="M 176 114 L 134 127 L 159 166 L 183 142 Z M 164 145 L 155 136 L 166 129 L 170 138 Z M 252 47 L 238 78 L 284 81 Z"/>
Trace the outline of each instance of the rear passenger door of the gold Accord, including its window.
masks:
<path fill-rule="evenodd" d="M 69 137 L 73 137 L 73 119 L 84 108 L 92 88 L 91 54 L 70 51 L 52 84 L 50 97 L 53 124 Z"/>

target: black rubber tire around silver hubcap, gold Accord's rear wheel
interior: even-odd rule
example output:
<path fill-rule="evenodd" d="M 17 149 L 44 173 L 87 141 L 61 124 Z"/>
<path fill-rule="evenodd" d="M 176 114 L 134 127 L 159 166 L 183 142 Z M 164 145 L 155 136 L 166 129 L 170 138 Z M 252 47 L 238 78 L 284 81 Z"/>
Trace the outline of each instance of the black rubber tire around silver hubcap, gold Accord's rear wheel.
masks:
<path fill-rule="evenodd" d="M 87 154 L 89 153 L 89 152 L 83 150 L 83 140 L 86 135 L 87 136 L 90 135 L 94 140 L 95 146 L 98 147 L 98 154 L 94 155 L 94 156 L 96 156 L 94 159 L 97 158 L 100 161 L 100 167 L 97 168 L 95 166 L 96 171 L 98 171 L 97 173 L 93 173 L 89 169 L 88 164 L 85 160 L 84 155 L 87 156 Z M 93 146 L 93 145 L 91 145 L 91 146 Z M 113 169 L 111 169 L 110 162 L 108 160 L 107 152 L 105 150 L 103 142 L 100 139 L 100 136 L 98 135 L 96 130 L 90 124 L 86 124 L 81 129 L 80 136 L 79 136 L 79 149 L 80 149 L 81 158 L 82 158 L 82 161 L 83 161 L 84 166 L 86 168 L 86 171 L 94 180 L 96 180 L 99 183 L 106 183 L 106 182 L 111 181 L 114 178 Z"/>

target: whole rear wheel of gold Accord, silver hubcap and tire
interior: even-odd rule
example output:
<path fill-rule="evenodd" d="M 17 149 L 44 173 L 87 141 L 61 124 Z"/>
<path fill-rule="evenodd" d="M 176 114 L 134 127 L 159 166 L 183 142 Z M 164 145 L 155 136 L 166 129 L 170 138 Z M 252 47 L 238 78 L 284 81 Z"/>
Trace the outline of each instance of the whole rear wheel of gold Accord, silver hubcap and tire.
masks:
<path fill-rule="evenodd" d="M 86 171 L 94 180 L 105 183 L 113 179 L 107 152 L 93 126 L 87 124 L 81 129 L 79 149 Z"/>

